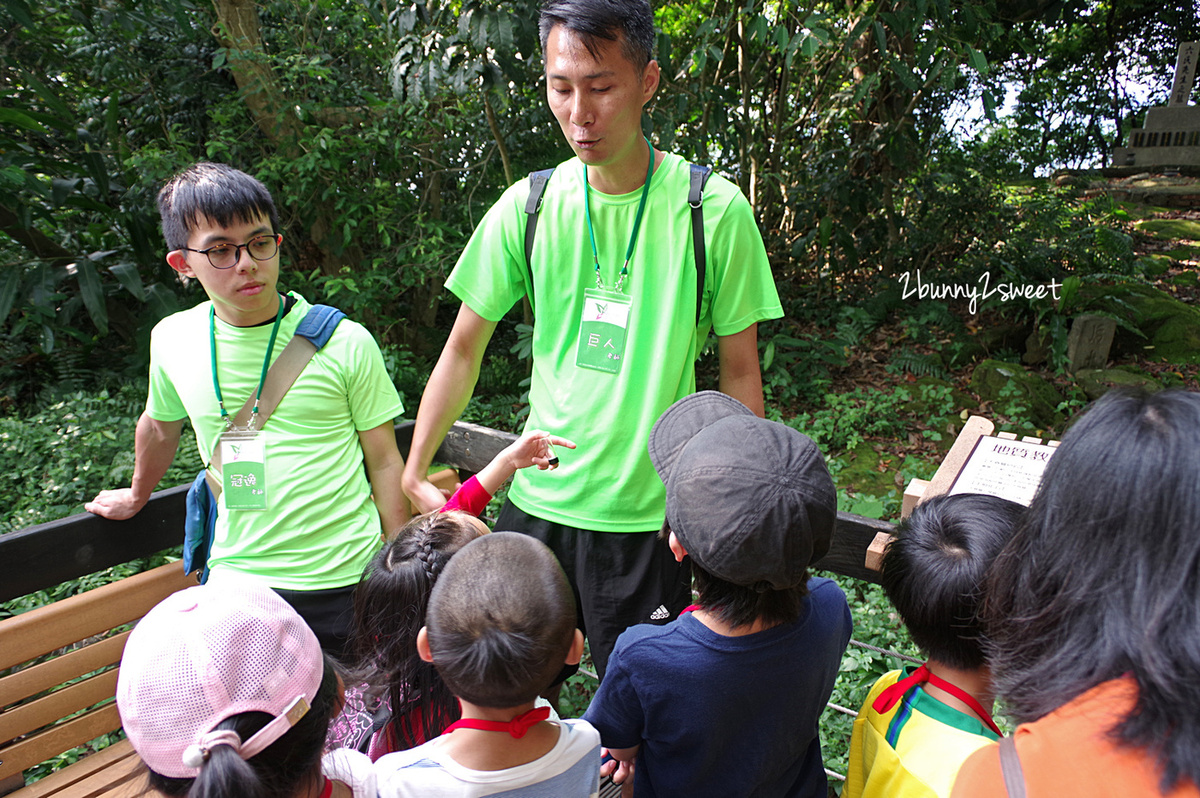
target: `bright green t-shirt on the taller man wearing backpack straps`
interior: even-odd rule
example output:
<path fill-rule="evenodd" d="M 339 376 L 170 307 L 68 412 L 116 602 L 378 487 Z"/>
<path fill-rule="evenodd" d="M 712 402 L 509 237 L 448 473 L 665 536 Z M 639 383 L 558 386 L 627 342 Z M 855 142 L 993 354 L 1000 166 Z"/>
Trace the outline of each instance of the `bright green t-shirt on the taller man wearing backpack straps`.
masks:
<path fill-rule="evenodd" d="M 650 180 L 624 294 L 632 299 L 624 362 L 611 374 L 576 366 L 583 293 L 595 287 L 584 221 L 583 164 L 560 164 L 546 186 L 533 250 L 530 428 L 575 440 L 554 472 L 523 469 L 509 493 L 530 515 L 600 532 L 647 532 L 662 523 L 662 484 L 646 446 L 650 427 L 695 392 L 695 361 L 708 330 L 732 335 L 784 314 L 750 204 L 713 175 L 704 190 L 707 277 L 696 325 L 696 265 L 686 161 L 667 155 Z M 524 204 L 529 182 L 511 186 L 472 235 L 446 287 L 488 320 L 528 292 Z M 592 192 L 600 270 L 617 281 L 641 190 Z"/>

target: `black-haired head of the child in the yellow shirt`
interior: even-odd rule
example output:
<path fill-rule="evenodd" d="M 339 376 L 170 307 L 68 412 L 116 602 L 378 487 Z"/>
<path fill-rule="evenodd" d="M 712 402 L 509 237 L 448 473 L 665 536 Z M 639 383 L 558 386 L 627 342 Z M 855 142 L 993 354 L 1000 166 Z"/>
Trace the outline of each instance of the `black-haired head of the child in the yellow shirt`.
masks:
<path fill-rule="evenodd" d="M 961 670 L 985 664 L 978 619 L 984 577 L 1024 512 L 995 496 L 938 496 L 898 527 L 881 582 L 930 658 Z"/>

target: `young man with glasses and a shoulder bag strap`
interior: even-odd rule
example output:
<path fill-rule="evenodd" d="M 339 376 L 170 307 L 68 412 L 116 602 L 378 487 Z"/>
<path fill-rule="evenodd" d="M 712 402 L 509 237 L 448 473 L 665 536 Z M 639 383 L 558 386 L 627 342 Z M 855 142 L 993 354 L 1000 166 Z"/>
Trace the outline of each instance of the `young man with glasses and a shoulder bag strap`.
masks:
<path fill-rule="evenodd" d="M 278 215 L 254 178 L 198 163 L 163 187 L 158 210 L 167 263 L 185 281 L 199 281 L 209 301 L 155 326 L 132 485 L 101 492 L 85 509 L 114 520 L 137 514 L 191 419 L 205 466 L 218 443 L 226 466 L 210 467 L 224 487 L 211 574 L 263 580 L 337 653 L 349 631 L 353 588 L 380 533 L 408 521 L 400 490 L 404 462 L 392 431 L 402 410 L 396 388 L 371 335 L 343 319 L 265 425 L 252 418 L 245 430 L 227 421 L 262 391 L 268 365 L 311 306 L 276 288 Z M 246 458 L 262 493 L 230 498 L 232 457 Z"/>

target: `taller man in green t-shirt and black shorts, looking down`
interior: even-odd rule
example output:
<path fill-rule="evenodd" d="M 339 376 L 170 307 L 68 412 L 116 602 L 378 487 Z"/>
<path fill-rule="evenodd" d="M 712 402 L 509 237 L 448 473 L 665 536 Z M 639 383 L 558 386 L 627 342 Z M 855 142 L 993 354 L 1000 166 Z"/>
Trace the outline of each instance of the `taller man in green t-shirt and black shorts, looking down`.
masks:
<path fill-rule="evenodd" d="M 520 474 L 497 528 L 533 534 L 558 556 L 602 674 L 617 635 L 670 620 L 689 598 L 688 572 L 655 538 L 664 493 L 649 430 L 696 390 L 709 329 L 720 389 L 762 415 L 757 323 L 782 310 L 749 203 L 714 175 L 697 324 L 689 166 L 641 128 L 659 85 L 646 1 L 552 0 L 540 28 L 550 106 L 576 157 L 546 186 L 528 266 L 521 181 L 450 275 L 463 304 L 421 398 L 404 488 L 419 509 L 440 506 L 425 479 L 433 452 L 470 398 L 497 322 L 528 295 L 538 319 L 528 422 L 578 449 L 559 452 L 553 475 Z"/>

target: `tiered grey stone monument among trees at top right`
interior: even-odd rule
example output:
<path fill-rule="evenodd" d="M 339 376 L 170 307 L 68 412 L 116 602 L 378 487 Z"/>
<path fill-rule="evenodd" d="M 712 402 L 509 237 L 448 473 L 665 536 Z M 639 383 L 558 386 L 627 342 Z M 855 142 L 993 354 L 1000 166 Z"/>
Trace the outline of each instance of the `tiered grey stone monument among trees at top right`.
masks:
<path fill-rule="evenodd" d="M 1200 166 L 1200 107 L 1188 104 L 1198 58 L 1200 42 L 1180 44 L 1170 101 L 1146 112 L 1145 126 L 1129 132 L 1129 146 L 1112 150 L 1112 166 Z"/>

